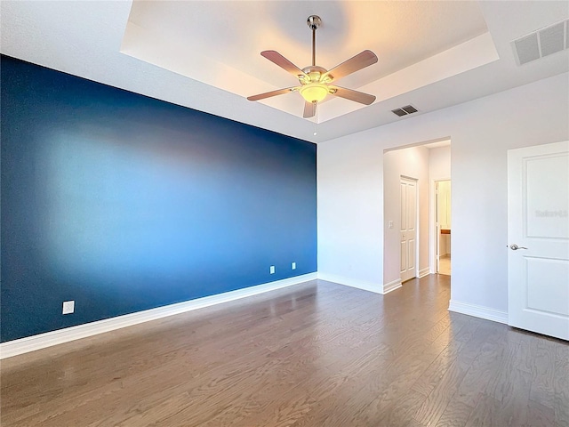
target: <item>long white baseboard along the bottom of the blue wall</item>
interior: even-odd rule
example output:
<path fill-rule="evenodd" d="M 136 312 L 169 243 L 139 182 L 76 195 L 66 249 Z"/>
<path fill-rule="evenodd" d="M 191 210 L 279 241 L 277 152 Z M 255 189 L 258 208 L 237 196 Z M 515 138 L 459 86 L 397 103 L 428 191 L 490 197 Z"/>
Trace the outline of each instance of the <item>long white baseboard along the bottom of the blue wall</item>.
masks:
<path fill-rule="evenodd" d="M 296 276 L 295 278 L 284 278 L 283 280 L 277 280 L 275 282 L 269 282 L 258 286 L 245 287 L 243 289 L 236 289 L 235 291 L 223 294 L 205 296 L 204 298 L 185 302 L 177 302 L 164 307 L 157 307 L 156 309 L 137 311 L 136 313 L 125 314 L 124 316 L 117 316 L 116 318 L 105 318 L 103 320 L 85 323 L 84 325 L 66 327 L 64 329 L 58 329 L 57 331 L 2 342 L 0 343 L 0 359 L 11 358 L 12 356 L 27 353 L 28 351 L 44 349 L 46 347 L 51 347 L 52 345 L 86 338 L 95 334 L 103 334 L 121 327 L 138 325 L 143 322 L 148 322 L 149 320 L 156 320 L 157 318 L 165 318 L 174 314 L 202 309 L 222 302 L 235 301 L 247 296 L 263 294 L 286 286 L 298 285 L 302 282 L 307 282 L 316 278 L 316 272 Z"/>

